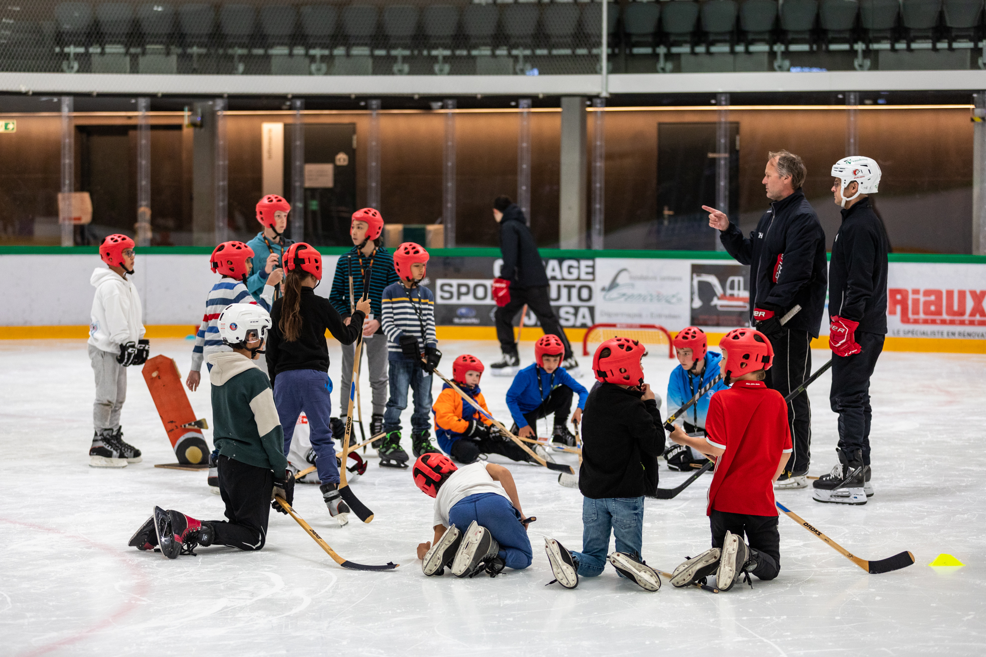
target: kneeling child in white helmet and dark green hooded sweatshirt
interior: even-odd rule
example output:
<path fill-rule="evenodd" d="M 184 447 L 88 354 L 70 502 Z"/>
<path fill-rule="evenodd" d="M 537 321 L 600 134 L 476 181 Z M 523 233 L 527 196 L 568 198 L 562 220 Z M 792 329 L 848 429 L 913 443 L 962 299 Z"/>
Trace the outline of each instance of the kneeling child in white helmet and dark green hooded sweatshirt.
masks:
<path fill-rule="evenodd" d="M 294 476 L 284 458 L 284 432 L 267 376 L 253 361 L 263 348 L 270 315 L 253 303 L 232 303 L 219 316 L 219 335 L 232 352 L 210 354 L 212 423 L 219 450 L 219 494 L 226 521 L 199 521 L 154 507 L 130 538 L 137 550 L 161 549 L 167 558 L 194 554 L 196 546 L 263 548 L 271 507 L 287 513 L 274 496 L 294 499 Z"/>

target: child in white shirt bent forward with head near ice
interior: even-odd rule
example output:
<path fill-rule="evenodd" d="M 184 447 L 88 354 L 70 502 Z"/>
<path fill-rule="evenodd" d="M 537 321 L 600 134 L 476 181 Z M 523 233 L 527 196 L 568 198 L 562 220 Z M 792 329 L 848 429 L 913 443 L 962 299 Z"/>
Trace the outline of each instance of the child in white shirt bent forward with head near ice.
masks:
<path fill-rule="evenodd" d="M 414 484 L 435 497 L 435 537 L 418 545 L 426 575 L 441 575 L 449 566 L 457 577 L 484 568 L 496 577 L 504 567 L 530 565 L 528 523 L 534 518 L 521 510 L 510 470 L 482 461 L 457 468 L 445 454 L 430 452 L 418 457 L 411 473 Z"/>

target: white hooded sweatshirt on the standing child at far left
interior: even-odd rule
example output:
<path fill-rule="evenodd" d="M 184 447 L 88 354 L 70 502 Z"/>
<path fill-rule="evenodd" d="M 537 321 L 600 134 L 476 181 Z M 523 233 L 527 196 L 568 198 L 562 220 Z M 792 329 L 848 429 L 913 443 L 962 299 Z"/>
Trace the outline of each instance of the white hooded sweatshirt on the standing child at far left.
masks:
<path fill-rule="evenodd" d="M 137 288 L 103 267 L 96 268 L 89 282 L 96 288 L 89 320 L 89 344 L 104 352 L 119 354 L 120 345 L 144 337 Z"/>

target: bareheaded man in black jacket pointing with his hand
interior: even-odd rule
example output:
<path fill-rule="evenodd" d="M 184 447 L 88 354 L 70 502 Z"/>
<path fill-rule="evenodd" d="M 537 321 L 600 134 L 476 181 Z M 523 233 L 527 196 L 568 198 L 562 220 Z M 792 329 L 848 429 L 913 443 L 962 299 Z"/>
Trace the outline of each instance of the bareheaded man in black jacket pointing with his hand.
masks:
<path fill-rule="evenodd" d="M 766 382 L 784 396 L 810 374 L 811 338 L 818 337 L 825 307 L 825 232 L 801 189 L 807 174 L 798 156 L 769 154 L 763 184 L 772 202 L 749 237 L 725 214 L 703 206 L 710 213 L 709 226 L 721 231 L 726 250 L 749 265 L 750 325 L 770 339 L 774 364 Z M 801 310 L 781 326 L 781 317 L 796 305 Z M 810 421 L 808 395 L 795 397 L 788 405 L 794 451 L 777 488 L 808 486 Z"/>

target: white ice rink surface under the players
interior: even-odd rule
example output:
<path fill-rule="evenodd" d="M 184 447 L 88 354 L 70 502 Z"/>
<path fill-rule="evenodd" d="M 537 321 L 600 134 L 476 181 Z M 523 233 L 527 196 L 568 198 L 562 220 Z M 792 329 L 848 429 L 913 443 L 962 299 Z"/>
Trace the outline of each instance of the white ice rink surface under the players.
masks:
<path fill-rule="evenodd" d="M 538 332 L 539 334 L 539 332 Z M 531 336 L 533 337 L 533 335 Z M 152 341 L 187 374 L 191 341 Z M 338 348 L 330 375 L 338 382 Z M 492 342 L 445 342 L 440 366 Z M 648 380 L 662 393 L 675 361 L 653 349 Z M 814 367 L 828 352 L 812 354 Z M 522 346 L 532 359 L 532 343 Z M 588 359 L 580 358 L 584 370 Z M 365 371 L 365 368 L 364 368 Z M 487 373 L 489 370 L 487 369 Z M 204 373 L 204 370 L 203 370 Z M 204 378 L 204 377 L 203 377 Z M 583 376 L 585 385 L 592 383 Z M 828 375 L 810 388 L 812 475 L 835 461 Z M 986 357 L 884 353 L 873 380 L 873 484 L 861 507 L 820 504 L 810 489 L 778 499 L 852 553 L 911 551 L 916 563 L 870 575 L 789 518 L 780 519 L 781 574 L 714 595 L 665 582 L 648 593 L 607 566 L 569 591 L 555 584 L 544 536 L 579 549 L 578 490 L 542 468 L 511 464 L 530 526 L 533 564 L 490 579 L 425 577 L 415 558 L 431 538 L 432 500 L 409 470 L 378 467 L 353 491 L 376 513 L 330 520 L 316 486 L 299 485 L 297 511 L 343 558 L 400 563 L 345 570 L 289 516 L 271 513 L 258 553 L 204 548 L 176 560 L 127 548 L 155 504 L 221 519 L 205 472 L 154 468 L 175 454 L 140 368 L 129 370 L 125 438 L 143 462 L 90 468 L 93 373 L 83 341 L 0 342 L 0 653 L 4 655 L 973 655 L 986 651 Z M 509 422 L 510 379 L 485 375 L 492 412 Z M 369 385 L 364 381 L 364 417 Z M 437 395 L 440 386 L 434 386 Z M 211 423 L 209 386 L 189 395 Z M 338 399 L 333 394 L 333 403 Z M 667 415 L 667 406 L 662 412 Z M 333 409 L 337 415 L 337 409 Z M 409 411 L 404 422 L 407 427 Z M 543 431 L 542 425 L 542 431 Z M 206 432 L 211 442 L 211 432 Z M 404 446 L 410 452 L 405 429 Z M 495 462 L 512 463 L 493 457 Z M 559 458 L 576 464 L 575 458 Z M 662 463 L 661 486 L 683 481 Z M 709 545 L 711 476 L 671 500 L 648 499 L 644 558 L 670 570 Z M 960 568 L 927 564 L 940 553 Z"/>

